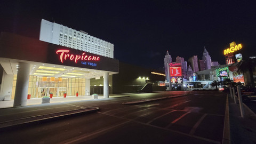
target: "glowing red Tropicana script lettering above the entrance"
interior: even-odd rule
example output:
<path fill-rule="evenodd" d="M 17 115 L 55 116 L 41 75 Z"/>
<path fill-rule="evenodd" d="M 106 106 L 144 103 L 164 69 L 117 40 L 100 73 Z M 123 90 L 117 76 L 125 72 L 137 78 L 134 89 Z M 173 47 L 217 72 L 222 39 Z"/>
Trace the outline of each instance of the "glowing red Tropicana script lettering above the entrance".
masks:
<path fill-rule="evenodd" d="M 60 53 L 60 61 L 63 63 L 63 59 L 70 59 L 74 60 L 75 63 L 77 63 L 77 60 L 86 60 L 86 61 L 100 61 L 100 57 L 95 57 L 91 55 L 85 55 L 85 52 L 82 53 L 82 55 L 74 55 L 74 54 L 69 54 L 69 50 L 58 50 L 56 51 L 56 54 Z"/>

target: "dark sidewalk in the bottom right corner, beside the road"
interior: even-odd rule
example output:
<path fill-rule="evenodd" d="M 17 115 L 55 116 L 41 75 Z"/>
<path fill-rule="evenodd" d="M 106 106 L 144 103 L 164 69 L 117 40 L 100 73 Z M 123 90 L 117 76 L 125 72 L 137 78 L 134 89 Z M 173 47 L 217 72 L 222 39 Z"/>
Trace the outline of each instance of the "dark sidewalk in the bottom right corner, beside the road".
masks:
<path fill-rule="evenodd" d="M 244 106 L 245 117 L 241 117 L 239 104 L 234 103 L 234 99 L 229 99 L 229 125 L 230 143 L 256 143 L 256 115 Z M 238 101 L 238 100 L 237 100 Z"/>

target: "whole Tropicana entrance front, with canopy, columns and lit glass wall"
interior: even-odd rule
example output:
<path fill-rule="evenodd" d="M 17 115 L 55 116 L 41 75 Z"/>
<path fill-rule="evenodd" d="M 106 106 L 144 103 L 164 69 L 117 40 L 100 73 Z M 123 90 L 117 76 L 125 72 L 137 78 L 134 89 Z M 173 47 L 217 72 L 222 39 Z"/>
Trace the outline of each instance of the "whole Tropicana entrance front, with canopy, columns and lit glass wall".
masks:
<path fill-rule="evenodd" d="M 119 65 L 113 58 L 10 33 L 1 33 L 0 63 L 0 100 L 14 99 L 14 107 L 25 106 L 28 94 L 90 95 L 90 79 L 100 77 L 108 98 L 109 75 L 117 74 Z"/>

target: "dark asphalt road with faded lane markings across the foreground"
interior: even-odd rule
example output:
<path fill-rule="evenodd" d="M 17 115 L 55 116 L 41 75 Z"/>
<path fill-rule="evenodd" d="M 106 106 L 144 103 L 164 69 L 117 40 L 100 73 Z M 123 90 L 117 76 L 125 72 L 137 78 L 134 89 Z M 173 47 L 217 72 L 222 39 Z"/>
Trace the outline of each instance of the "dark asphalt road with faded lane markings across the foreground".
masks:
<path fill-rule="evenodd" d="M 123 104 L 182 93 L 184 92 L 132 94 L 124 98 L 66 102 L 54 106 L 48 105 L 47 108 L 35 106 L 33 110 L 10 109 L 9 112 L 17 113 L 17 117 L 85 107 L 99 107 L 100 111 L 58 121 L 0 129 L 0 142 L 221 143 L 226 94 L 197 91 L 177 98 L 133 105 Z"/>

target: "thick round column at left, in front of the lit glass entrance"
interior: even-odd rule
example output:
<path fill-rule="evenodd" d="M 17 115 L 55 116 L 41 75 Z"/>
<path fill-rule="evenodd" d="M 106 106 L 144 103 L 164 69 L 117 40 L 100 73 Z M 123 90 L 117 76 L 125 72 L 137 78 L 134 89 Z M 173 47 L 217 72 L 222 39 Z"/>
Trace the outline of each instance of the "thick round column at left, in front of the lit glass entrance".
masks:
<path fill-rule="evenodd" d="M 19 62 L 13 107 L 26 106 L 30 64 Z"/>

